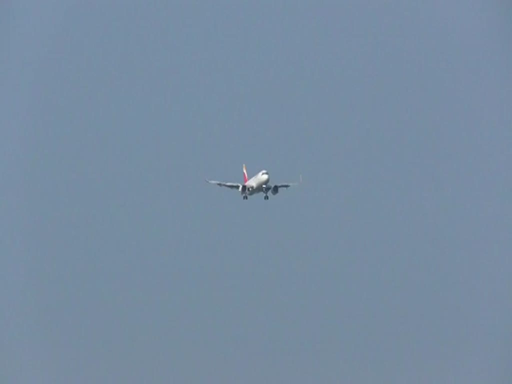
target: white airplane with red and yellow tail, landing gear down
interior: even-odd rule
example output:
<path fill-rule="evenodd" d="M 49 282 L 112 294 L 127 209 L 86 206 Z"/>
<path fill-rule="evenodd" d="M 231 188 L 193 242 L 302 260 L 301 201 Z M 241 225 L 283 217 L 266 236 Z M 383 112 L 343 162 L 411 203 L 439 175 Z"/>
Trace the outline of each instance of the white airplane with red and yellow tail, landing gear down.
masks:
<path fill-rule="evenodd" d="M 263 193 L 265 196 L 264 200 L 268 200 L 268 193 L 270 192 L 272 195 L 277 195 L 279 193 L 280 188 L 289 188 L 292 185 L 297 185 L 298 183 L 288 183 L 288 184 L 274 184 L 270 185 L 270 176 L 268 172 L 263 169 L 260 170 L 256 175 L 251 177 L 250 179 L 247 177 L 247 168 L 245 164 L 243 165 L 244 170 L 244 182 L 241 183 L 225 183 L 222 181 L 214 181 L 214 180 L 206 180 L 206 182 L 210 184 L 217 184 L 220 187 L 227 187 L 230 189 L 238 189 L 240 194 L 242 195 L 243 200 L 248 200 L 249 196 Z M 302 175 L 301 175 L 302 182 Z"/>

